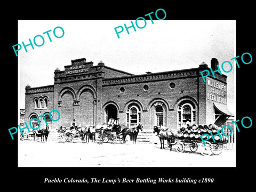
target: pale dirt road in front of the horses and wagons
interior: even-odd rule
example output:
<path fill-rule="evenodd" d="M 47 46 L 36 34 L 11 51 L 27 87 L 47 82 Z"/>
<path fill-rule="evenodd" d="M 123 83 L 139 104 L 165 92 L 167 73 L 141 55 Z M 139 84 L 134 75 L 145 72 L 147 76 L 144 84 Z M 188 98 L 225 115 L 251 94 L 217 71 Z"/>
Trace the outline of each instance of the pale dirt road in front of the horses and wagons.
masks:
<path fill-rule="evenodd" d="M 198 149 L 199 150 L 199 149 Z M 203 156 L 200 153 L 159 149 L 153 143 L 60 143 L 19 141 L 18 166 L 34 167 L 189 167 L 235 166 L 235 151 Z"/>

